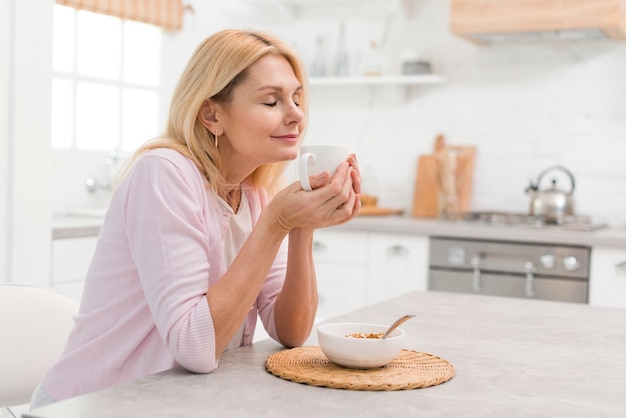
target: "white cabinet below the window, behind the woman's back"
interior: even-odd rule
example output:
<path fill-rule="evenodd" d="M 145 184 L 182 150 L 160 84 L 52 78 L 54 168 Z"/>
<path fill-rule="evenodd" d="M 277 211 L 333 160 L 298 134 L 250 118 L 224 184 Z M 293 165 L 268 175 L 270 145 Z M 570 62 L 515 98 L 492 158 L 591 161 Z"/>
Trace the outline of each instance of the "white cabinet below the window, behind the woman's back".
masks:
<path fill-rule="evenodd" d="M 94 236 L 52 241 L 51 287 L 80 302 L 97 239 Z"/>

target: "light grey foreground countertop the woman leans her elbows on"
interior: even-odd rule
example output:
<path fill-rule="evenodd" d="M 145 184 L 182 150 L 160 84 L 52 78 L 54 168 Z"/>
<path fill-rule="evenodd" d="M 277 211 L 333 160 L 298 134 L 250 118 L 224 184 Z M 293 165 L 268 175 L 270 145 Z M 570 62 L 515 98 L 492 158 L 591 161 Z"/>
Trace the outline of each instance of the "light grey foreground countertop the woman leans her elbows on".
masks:
<path fill-rule="evenodd" d="M 293 383 L 265 371 L 283 347 L 264 340 L 224 353 L 210 374 L 169 370 L 24 417 L 626 416 L 626 310 L 412 292 L 330 322 L 391 324 L 405 313 L 417 315 L 402 325 L 405 348 L 450 361 L 452 380 L 390 392 Z"/>

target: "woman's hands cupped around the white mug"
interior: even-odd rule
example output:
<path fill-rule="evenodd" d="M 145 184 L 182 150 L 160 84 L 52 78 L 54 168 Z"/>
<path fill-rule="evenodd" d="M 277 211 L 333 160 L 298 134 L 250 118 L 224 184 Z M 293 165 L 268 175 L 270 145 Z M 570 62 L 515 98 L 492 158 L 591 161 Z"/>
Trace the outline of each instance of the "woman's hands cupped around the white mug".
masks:
<path fill-rule="evenodd" d="M 304 190 L 296 181 L 278 192 L 264 212 L 270 222 L 285 232 L 348 222 L 361 208 L 360 196 L 353 187 L 353 170 L 346 162 L 337 168 L 330 181 L 328 172 L 311 176 L 311 191 Z"/>

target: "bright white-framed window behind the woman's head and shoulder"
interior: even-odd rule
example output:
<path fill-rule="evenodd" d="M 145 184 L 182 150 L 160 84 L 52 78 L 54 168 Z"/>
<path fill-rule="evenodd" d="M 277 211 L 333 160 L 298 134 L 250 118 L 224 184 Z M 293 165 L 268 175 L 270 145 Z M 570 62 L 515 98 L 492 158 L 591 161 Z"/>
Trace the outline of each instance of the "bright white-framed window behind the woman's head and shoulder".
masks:
<path fill-rule="evenodd" d="M 54 6 L 52 147 L 127 152 L 159 133 L 161 29 Z"/>

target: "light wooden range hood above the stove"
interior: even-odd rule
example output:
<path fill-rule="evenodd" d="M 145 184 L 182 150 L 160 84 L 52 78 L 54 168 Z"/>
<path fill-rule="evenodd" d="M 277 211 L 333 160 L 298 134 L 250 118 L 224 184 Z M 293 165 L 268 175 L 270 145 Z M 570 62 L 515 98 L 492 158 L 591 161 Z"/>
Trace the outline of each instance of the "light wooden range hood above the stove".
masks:
<path fill-rule="evenodd" d="M 479 44 L 626 39 L 626 0 L 451 0 L 450 29 Z"/>

